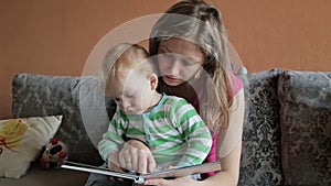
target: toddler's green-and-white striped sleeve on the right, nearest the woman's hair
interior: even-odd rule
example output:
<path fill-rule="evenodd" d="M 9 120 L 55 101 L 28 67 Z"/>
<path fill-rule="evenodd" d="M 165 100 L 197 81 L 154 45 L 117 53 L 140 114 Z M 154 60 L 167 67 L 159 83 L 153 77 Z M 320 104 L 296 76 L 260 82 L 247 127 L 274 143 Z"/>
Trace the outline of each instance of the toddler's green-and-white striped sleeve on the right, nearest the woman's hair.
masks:
<path fill-rule="evenodd" d="M 212 135 L 209 128 L 193 106 L 184 99 L 174 102 L 171 113 L 186 145 L 186 151 L 177 166 L 201 164 L 212 146 Z"/>

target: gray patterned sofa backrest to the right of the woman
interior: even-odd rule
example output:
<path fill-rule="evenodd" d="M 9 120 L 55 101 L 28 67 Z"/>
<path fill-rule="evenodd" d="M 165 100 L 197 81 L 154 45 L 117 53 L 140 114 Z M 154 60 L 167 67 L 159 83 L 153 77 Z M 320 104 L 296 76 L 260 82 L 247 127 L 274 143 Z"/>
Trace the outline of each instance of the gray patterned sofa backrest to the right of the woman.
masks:
<path fill-rule="evenodd" d="M 242 80 L 239 185 L 331 185 L 331 73 L 273 69 Z"/>

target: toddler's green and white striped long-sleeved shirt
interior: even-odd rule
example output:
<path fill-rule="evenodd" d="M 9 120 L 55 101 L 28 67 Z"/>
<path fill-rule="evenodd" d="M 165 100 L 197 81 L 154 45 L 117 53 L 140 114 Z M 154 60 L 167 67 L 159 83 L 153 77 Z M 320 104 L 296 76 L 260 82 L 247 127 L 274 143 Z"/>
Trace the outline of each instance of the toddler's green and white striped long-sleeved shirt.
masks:
<path fill-rule="evenodd" d="M 212 146 L 210 130 L 193 106 L 183 98 L 167 95 L 143 114 L 116 110 L 98 143 L 105 161 L 111 151 L 120 150 L 125 143 L 122 134 L 146 142 L 160 168 L 201 164 Z"/>

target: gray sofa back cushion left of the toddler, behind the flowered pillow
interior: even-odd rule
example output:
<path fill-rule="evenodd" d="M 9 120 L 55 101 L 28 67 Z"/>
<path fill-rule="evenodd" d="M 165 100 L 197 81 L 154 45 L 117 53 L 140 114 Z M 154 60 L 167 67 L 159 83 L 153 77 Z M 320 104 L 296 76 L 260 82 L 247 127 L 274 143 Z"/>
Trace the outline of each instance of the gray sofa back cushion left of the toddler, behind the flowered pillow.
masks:
<path fill-rule="evenodd" d="M 63 114 L 55 136 L 67 144 L 68 160 L 102 164 L 95 143 L 106 131 L 109 119 L 105 106 L 97 107 L 105 105 L 97 78 L 19 74 L 12 88 L 15 118 Z"/>

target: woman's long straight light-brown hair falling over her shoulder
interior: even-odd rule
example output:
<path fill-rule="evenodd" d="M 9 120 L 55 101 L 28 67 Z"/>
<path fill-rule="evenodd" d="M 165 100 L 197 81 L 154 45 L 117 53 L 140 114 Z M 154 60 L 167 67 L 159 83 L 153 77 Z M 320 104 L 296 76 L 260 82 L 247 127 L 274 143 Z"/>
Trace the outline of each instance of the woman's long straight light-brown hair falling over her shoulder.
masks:
<path fill-rule="evenodd" d="M 158 55 L 160 43 L 171 37 L 194 41 L 205 56 L 203 69 L 211 78 L 200 100 L 200 114 L 212 131 L 227 127 L 233 105 L 227 35 L 221 12 L 201 0 L 173 4 L 154 24 L 149 40 L 150 55 Z M 157 57 L 153 57 L 154 59 Z"/>

